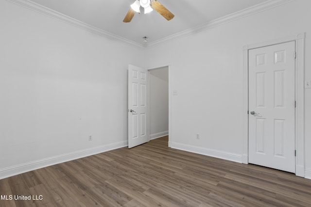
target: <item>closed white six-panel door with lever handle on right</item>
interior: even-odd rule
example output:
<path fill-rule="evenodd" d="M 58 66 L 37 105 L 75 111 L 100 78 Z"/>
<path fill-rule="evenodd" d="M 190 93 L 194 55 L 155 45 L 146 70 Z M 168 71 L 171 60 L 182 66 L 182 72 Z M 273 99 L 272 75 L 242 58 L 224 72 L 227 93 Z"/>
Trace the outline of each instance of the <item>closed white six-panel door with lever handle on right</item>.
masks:
<path fill-rule="evenodd" d="M 295 42 L 250 49 L 249 163 L 295 173 Z"/>

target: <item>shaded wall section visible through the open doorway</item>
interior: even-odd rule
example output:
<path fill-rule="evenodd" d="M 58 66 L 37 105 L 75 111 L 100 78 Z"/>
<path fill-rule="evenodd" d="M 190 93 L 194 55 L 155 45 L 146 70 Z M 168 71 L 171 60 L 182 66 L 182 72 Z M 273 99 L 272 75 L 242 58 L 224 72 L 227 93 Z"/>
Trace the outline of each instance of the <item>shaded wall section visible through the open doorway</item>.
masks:
<path fill-rule="evenodd" d="M 150 137 L 158 138 L 169 132 L 169 68 L 151 70 Z"/>

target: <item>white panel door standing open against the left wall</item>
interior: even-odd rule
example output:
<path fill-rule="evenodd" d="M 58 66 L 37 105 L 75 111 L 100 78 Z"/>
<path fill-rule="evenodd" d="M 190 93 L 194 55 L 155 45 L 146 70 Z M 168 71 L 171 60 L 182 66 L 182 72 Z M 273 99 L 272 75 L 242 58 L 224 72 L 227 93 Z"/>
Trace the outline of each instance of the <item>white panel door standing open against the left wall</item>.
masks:
<path fill-rule="evenodd" d="M 149 141 L 148 138 L 148 71 L 128 66 L 128 147 Z"/>

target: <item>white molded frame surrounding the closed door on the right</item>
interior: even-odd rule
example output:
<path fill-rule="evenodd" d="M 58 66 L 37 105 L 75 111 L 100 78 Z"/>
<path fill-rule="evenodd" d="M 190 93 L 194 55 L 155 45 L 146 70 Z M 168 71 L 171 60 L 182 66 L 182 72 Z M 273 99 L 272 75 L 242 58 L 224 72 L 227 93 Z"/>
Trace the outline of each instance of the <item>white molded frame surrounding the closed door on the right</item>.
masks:
<path fill-rule="evenodd" d="M 243 149 L 242 163 L 248 164 L 248 50 L 277 45 L 286 42 L 295 42 L 295 175 L 305 177 L 305 117 L 304 117 L 304 80 L 305 80 L 305 32 L 296 33 L 267 42 L 243 46 Z M 294 55 L 294 54 L 293 54 Z"/>

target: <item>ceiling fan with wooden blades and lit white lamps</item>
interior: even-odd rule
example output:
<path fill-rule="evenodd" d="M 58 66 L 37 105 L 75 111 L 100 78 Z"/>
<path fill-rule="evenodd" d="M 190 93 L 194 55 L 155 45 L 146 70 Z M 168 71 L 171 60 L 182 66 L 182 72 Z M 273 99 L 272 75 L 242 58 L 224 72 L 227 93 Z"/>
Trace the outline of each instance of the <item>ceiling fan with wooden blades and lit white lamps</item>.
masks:
<path fill-rule="evenodd" d="M 155 9 L 155 11 L 167 20 L 171 20 L 174 17 L 172 12 L 170 12 L 157 0 L 135 0 L 135 2 L 131 4 L 131 8 L 128 10 L 123 22 L 130 22 L 136 13 L 140 13 L 140 6 L 144 8 L 144 14 Z"/>

